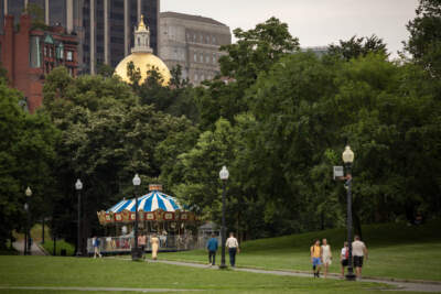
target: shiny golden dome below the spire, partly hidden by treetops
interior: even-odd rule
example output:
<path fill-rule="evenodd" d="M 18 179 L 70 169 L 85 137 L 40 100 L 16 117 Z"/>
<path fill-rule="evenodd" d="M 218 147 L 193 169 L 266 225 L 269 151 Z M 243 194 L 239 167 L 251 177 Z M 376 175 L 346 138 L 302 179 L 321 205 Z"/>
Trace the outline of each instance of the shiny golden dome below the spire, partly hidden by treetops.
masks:
<path fill-rule="evenodd" d="M 135 68 L 139 68 L 141 70 L 141 79 L 139 81 L 140 84 L 144 83 L 146 78 L 148 77 L 147 72 L 153 69 L 154 67 L 155 70 L 158 70 L 162 76 L 162 86 L 169 85 L 171 74 L 166 65 L 152 53 L 144 52 L 132 53 L 119 62 L 119 64 L 115 68 L 115 74 L 120 76 L 123 81 L 131 84 L 131 80 L 127 75 L 127 65 L 130 62 L 133 62 Z"/>

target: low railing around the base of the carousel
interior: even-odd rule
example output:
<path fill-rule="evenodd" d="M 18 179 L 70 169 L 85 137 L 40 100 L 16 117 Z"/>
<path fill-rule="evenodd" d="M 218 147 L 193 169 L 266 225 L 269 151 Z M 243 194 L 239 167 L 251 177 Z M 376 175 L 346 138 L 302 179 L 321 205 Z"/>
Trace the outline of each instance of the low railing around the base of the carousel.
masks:
<path fill-rule="evenodd" d="M 151 251 L 150 238 L 147 236 L 144 251 Z M 158 236 L 160 240 L 160 251 L 185 251 L 194 249 L 204 249 L 208 237 L 207 236 L 192 236 L 192 235 L 174 235 L 174 236 Z M 119 254 L 130 252 L 135 246 L 135 238 L 132 236 L 126 237 L 99 237 L 99 250 L 105 254 Z M 141 247 L 141 244 L 139 244 Z M 87 239 L 87 252 L 94 254 L 93 238 Z"/>

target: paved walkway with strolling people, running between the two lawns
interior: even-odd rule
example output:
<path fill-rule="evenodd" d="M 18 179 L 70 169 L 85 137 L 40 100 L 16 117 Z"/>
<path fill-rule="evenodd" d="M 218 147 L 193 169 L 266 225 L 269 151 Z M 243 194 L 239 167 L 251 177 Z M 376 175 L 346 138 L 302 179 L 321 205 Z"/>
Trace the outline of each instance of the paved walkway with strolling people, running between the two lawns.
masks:
<path fill-rule="evenodd" d="M 218 270 L 219 268 L 209 266 L 201 263 L 191 263 L 191 262 L 181 262 L 181 261 L 169 261 L 169 260 L 146 260 L 148 262 L 160 262 L 180 266 L 191 266 L 191 268 L 198 268 L 198 269 L 211 269 L 211 270 Z M 232 268 L 229 268 L 232 269 Z M 263 274 L 275 274 L 275 275 L 289 275 L 289 276 L 302 276 L 302 277 L 312 277 L 312 274 L 304 273 L 304 272 L 291 272 L 291 271 L 270 271 L 270 270 L 258 270 L 258 269 L 247 269 L 247 268 L 235 268 L 232 269 L 234 271 L 239 272 L 250 272 L 250 273 L 263 273 Z M 333 280 L 341 280 L 342 277 L 337 275 L 329 275 L 327 279 Z M 429 282 L 396 282 L 396 281 L 387 281 L 380 279 L 362 279 L 361 282 L 370 282 L 370 283 L 381 283 L 396 286 L 395 291 L 412 291 L 412 292 L 438 292 L 441 293 L 441 283 L 429 283 Z M 394 290 L 391 290 L 394 291 Z"/>

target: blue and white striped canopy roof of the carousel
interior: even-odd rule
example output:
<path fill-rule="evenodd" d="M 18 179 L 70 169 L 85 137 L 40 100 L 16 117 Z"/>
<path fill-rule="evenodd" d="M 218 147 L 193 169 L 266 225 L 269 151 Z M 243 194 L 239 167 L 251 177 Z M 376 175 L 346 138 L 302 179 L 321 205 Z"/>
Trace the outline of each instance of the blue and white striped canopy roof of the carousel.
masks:
<path fill-rule="evenodd" d="M 112 206 L 106 213 L 121 213 L 125 209 L 135 213 L 135 199 L 123 199 Z M 182 210 L 182 207 L 175 198 L 159 190 L 153 190 L 144 196 L 138 197 L 138 211 L 154 211 L 157 209 L 162 209 L 164 211 L 175 211 Z"/>

